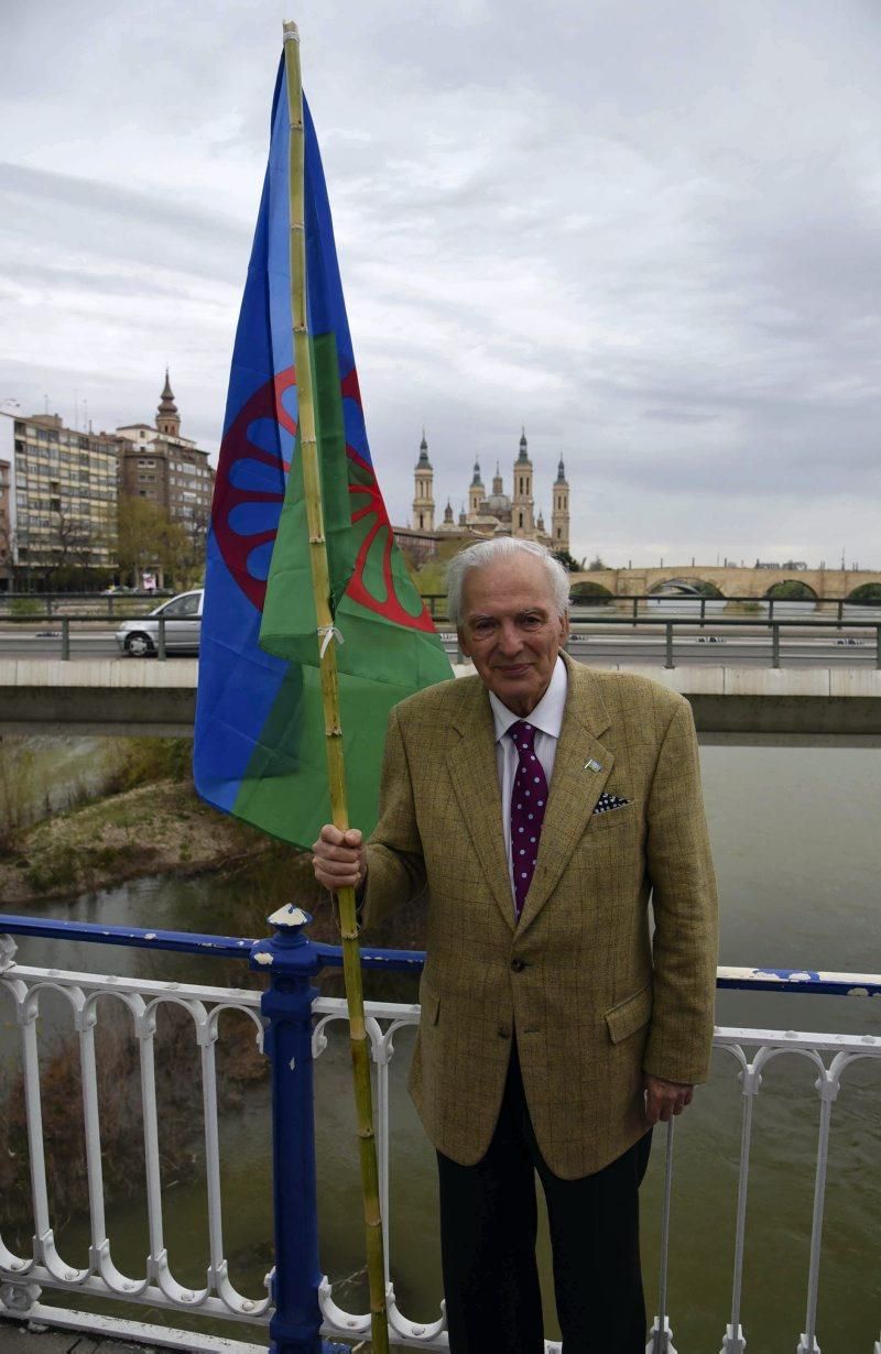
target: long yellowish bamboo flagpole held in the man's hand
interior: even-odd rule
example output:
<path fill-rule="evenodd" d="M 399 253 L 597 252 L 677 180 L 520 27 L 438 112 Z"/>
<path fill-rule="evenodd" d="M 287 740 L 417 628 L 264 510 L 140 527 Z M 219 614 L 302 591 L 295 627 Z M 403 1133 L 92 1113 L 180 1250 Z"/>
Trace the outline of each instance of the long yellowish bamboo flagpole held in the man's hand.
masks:
<path fill-rule="evenodd" d="M 283 31 L 285 77 L 290 122 L 290 309 L 294 330 L 294 367 L 297 371 L 297 424 L 300 454 L 302 456 L 306 519 L 309 524 L 312 589 L 319 636 L 321 638 L 321 699 L 324 707 L 331 812 L 335 827 L 346 830 L 348 827 L 346 766 L 343 760 L 343 733 L 340 728 L 339 681 L 336 673 L 336 650 L 333 647 L 335 631 L 333 616 L 331 615 L 331 584 L 327 542 L 324 538 L 321 473 L 319 468 L 319 448 L 314 428 L 314 385 L 306 313 L 305 130 L 302 119 L 302 79 L 300 72 L 300 31 L 291 20 L 285 22 Z M 375 1354 L 388 1354 L 389 1326 L 385 1305 L 385 1255 L 382 1216 L 380 1210 L 380 1173 L 377 1169 L 377 1143 L 373 1129 L 370 1055 L 365 1026 L 355 890 L 340 888 L 337 900 L 343 938 L 343 974 L 348 1003 L 355 1110 L 358 1116 L 361 1182 L 367 1242 L 367 1278 L 370 1284 L 370 1328 Z"/>

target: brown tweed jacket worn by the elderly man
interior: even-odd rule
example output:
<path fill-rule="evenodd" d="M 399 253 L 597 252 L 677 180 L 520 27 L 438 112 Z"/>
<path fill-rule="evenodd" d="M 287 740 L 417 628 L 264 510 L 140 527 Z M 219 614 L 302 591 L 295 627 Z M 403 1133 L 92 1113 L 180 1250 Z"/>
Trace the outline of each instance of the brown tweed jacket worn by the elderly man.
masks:
<path fill-rule="evenodd" d="M 542 1156 L 576 1179 L 647 1131 L 644 1071 L 706 1079 L 717 906 L 687 701 L 564 659 L 562 727 L 519 922 L 478 677 L 392 711 L 363 918 L 427 896 L 409 1089 L 434 1145 L 461 1164 L 485 1154 L 516 1034 Z M 595 814 L 603 791 L 626 806 Z"/>

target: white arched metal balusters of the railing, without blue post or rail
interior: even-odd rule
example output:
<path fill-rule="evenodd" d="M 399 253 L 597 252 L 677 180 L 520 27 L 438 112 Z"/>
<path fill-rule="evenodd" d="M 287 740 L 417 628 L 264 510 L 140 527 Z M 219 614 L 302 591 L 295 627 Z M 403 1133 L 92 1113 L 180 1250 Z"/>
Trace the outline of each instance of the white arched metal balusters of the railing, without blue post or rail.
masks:
<path fill-rule="evenodd" d="M 222 1173 L 218 1137 L 218 1102 L 216 1075 L 216 1043 L 218 1021 L 224 1011 L 240 1011 L 253 1022 L 255 1039 L 262 1047 L 260 992 L 241 988 L 207 987 L 182 983 L 161 983 L 134 978 L 98 976 L 92 974 L 60 972 L 15 964 L 15 945 L 0 937 L 0 1002 L 5 992 L 11 998 L 22 1040 L 22 1067 L 24 1076 L 27 1135 L 30 1147 L 31 1192 L 34 1208 L 34 1254 L 14 1254 L 0 1236 L 0 1317 L 30 1317 L 52 1322 L 72 1330 L 115 1332 L 136 1339 L 157 1339 L 155 1327 L 141 1322 L 98 1317 L 92 1313 L 60 1309 L 39 1301 L 41 1289 L 49 1288 L 94 1297 L 110 1297 L 126 1304 L 142 1304 L 165 1312 L 199 1312 L 236 1323 L 266 1326 L 270 1320 L 270 1298 L 266 1294 L 245 1296 L 239 1292 L 228 1273 L 222 1228 Z M 846 978 L 847 975 L 838 975 Z M 61 994 L 70 1006 L 73 1026 L 79 1040 L 83 1080 L 83 1122 L 87 1144 L 87 1173 L 91 1244 L 88 1265 L 70 1265 L 60 1252 L 52 1228 L 46 1186 L 45 1145 L 42 1133 L 39 1048 L 37 1021 L 41 999 L 49 991 Z M 98 1099 L 95 1029 L 100 998 L 115 995 L 127 1010 L 140 1049 L 141 1105 L 144 1114 L 146 1209 L 149 1228 L 149 1257 L 146 1269 L 138 1275 L 119 1271 L 112 1259 L 111 1239 L 107 1236 L 104 1213 L 102 1133 Z M 206 1284 L 191 1289 L 175 1278 L 175 1257 L 163 1227 L 163 1192 L 159 1155 L 159 1112 L 156 1095 L 156 1016 L 164 1003 L 175 1003 L 191 1018 L 192 1039 L 199 1051 L 202 1067 L 202 1129 L 205 1136 L 205 1177 L 207 1190 L 207 1235 L 210 1263 Z M 321 1066 L 321 1055 L 328 1044 L 328 1032 L 335 1022 L 346 1021 L 346 1005 L 332 998 L 319 998 L 313 1003 L 316 1018 L 312 1049 Z M 392 1251 L 389 1236 L 390 1202 L 390 1116 L 392 1098 L 389 1070 L 394 1056 L 394 1036 L 419 1021 L 419 1007 L 393 1002 L 367 1003 L 367 1033 L 377 1074 L 377 1147 L 380 1154 L 380 1186 L 385 1228 L 388 1311 L 394 1345 L 408 1349 L 446 1350 L 443 1304 L 434 1322 L 420 1323 L 398 1308 L 394 1296 Z M 820 1125 L 816 1152 L 813 1192 L 813 1221 L 806 1274 L 806 1312 L 804 1331 L 794 1354 L 820 1354 L 816 1332 L 819 1274 L 821 1258 L 823 1210 L 825 1200 L 827 1160 L 832 1109 L 847 1070 L 859 1060 L 874 1060 L 881 1070 L 881 1037 L 870 1034 L 812 1034 L 793 1030 L 720 1028 L 716 1048 L 732 1064 L 741 1089 L 741 1141 L 737 1187 L 737 1208 L 733 1238 L 733 1282 L 731 1320 L 721 1334 L 720 1354 L 744 1354 L 745 1336 L 741 1311 L 741 1277 L 747 1235 L 747 1198 L 752 1144 L 752 1116 L 755 1099 L 762 1087 L 764 1068 L 779 1055 L 796 1053 L 806 1059 L 816 1071 L 815 1090 L 820 1101 Z M 161 1056 L 161 1049 L 160 1049 Z M 648 1354 L 675 1354 L 671 1315 L 667 1311 L 667 1261 L 671 1246 L 671 1194 L 675 1160 L 675 1133 L 672 1124 L 665 1145 L 665 1187 L 661 1208 L 661 1270 L 660 1303 L 655 1317 Z M 267 1217 L 267 1231 L 270 1228 Z M 267 1275 L 268 1280 L 268 1275 Z M 363 1339 L 370 1334 L 369 1313 L 346 1311 L 333 1297 L 333 1288 L 321 1281 L 319 1301 L 324 1320 L 324 1334 Z M 721 1324 L 721 1323 L 720 1323 Z M 216 1335 L 194 1335 L 190 1331 L 161 1328 L 161 1342 L 168 1347 L 256 1354 L 253 1343 L 220 1339 Z M 548 1343 L 548 1351 L 560 1346 Z M 858 1354 L 858 1351 L 854 1351 Z M 866 1354 L 872 1354 L 866 1350 Z M 881 1340 L 874 1346 L 881 1354 Z"/>

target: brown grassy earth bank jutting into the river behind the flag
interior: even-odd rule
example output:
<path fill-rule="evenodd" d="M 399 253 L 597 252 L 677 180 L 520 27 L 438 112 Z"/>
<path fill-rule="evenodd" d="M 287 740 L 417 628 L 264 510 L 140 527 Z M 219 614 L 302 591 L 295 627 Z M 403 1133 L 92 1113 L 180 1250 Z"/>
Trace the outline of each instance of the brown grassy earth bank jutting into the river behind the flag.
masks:
<path fill-rule="evenodd" d="M 0 856 L 4 907 L 95 892 L 144 875 L 198 875 L 276 846 L 167 777 L 12 833 Z"/>

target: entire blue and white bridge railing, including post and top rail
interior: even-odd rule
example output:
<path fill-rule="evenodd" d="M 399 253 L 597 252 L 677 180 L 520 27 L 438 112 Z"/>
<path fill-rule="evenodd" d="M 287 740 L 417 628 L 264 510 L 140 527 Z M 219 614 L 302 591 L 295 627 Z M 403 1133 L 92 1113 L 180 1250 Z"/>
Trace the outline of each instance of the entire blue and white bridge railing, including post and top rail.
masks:
<path fill-rule="evenodd" d="M 98 1316 L 81 1308 L 62 1308 L 41 1301 L 43 1289 L 87 1297 L 112 1298 L 126 1312 L 141 1307 L 159 1308 L 165 1316 L 198 1313 L 224 1319 L 229 1330 L 268 1326 L 270 1349 L 278 1354 L 329 1354 L 347 1350 L 333 1336 L 362 1340 L 369 1336 L 370 1316 L 350 1312 L 335 1296 L 319 1265 L 319 1229 L 314 1152 L 313 1064 L 327 1047 L 328 1029 L 346 1021 L 344 1002 L 319 997 L 313 982 L 324 967 L 342 964 L 336 946 L 313 944 L 305 934 L 309 918 L 295 907 L 285 907 L 270 921 L 274 934 L 267 940 L 201 936 L 182 932 L 148 932 L 134 927 L 106 927 L 84 923 L 35 921 L 0 915 L 0 1001 L 11 1001 L 20 1033 L 23 1086 L 27 1112 L 30 1183 L 34 1238 L 30 1255 L 15 1252 L 4 1240 L 0 1209 L 0 1323 L 3 1319 L 41 1322 L 81 1332 L 115 1334 L 136 1340 L 157 1340 L 163 1347 L 258 1354 L 264 1345 L 229 1335 L 198 1334 L 192 1330 L 161 1328 L 133 1320 L 130 1315 Z M 141 978 L 65 972 L 16 963 L 14 936 L 66 938 L 108 945 L 130 945 L 146 951 L 169 951 L 199 956 L 247 960 L 252 969 L 268 978 L 267 990 L 210 987 Z M 366 951 L 363 963 L 385 971 L 420 971 L 424 956 L 412 951 Z M 720 968 L 720 988 L 741 991 L 815 992 L 825 997 L 881 997 L 881 975 L 824 974 L 790 969 Z M 77 1266 L 62 1257 L 53 1231 L 43 1140 L 43 1095 L 38 1025 L 41 1002 L 47 992 L 60 994 L 73 1013 L 79 1041 L 85 1132 L 91 1243 L 88 1262 Z M 125 1274 L 117 1266 L 112 1239 L 107 1235 L 104 1210 L 102 1124 L 98 1097 L 95 1033 L 112 995 L 122 1002 L 140 1051 L 140 1098 L 144 1121 L 145 1190 L 149 1257 L 142 1273 Z M 210 1261 L 202 1288 L 190 1288 L 176 1277 L 180 1240 L 172 1242 L 164 1227 L 164 1194 L 159 1151 L 159 1109 L 156 1093 L 157 1013 L 173 1003 L 190 1017 L 191 1039 L 198 1048 L 202 1072 L 202 1133 L 205 1140 L 205 1182 Z M 239 1011 L 253 1025 L 255 1040 L 270 1059 L 272 1086 L 272 1204 L 275 1265 L 266 1277 L 263 1293 L 243 1293 L 230 1274 L 224 1236 L 222 1187 L 218 1135 L 216 1045 L 225 1013 Z M 375 1067 L 375 1121 L 380 1154 L 380 1189 L 385 1227 L 386 1293 L 393 1346 L 423 1350 L 447 1349 L 443 1308 L 432 1322 L 417 1322 L 401 1311 L 396 1298 L 393 1255 L 389 1238 L 392 1098 L 389 1068 L 394 1056 L 394 1036 L 419 1020 L 419 1007 L 394 1002 L 367 1003 L 367 1032 Z M 804 1330 L 797 1354 L 820 1354 L 817 1343 L 817 1298 L 823 1254 L 823 1215 L 829 1160 L 829 1131 L 839 1090 L 850 1068 L 870 1060 L 881 1071 L 881 1037 L 873 1034 L 823 1034 L 773 1029 L 717 1028 L 716 1048 L 724 1055 L 741 1090 L 741 1135 L 733 1254 L 732 1301 L 720 1313 L 721 1354 L 744 1354 L 743 1266 L 747 1236 L 747 1197 L 752 1147 L 752 1116 L 763 1071 L 782 1053 L 796 1053 L 816 1072 L 819 1131 L 812 1204 L 812 1235 L 805 1274 Z M 73 1106 L 70 1106 L 73 1114 Z M 675 1354 L 674 1326 L 668 1311 L 668 1258 L 671 1248 L 671 1200 L 675 1164 L 674 1122 L 665 1133 L 664 1193 L 657 1313 L 648 1334 L 647 1351 Z M 881 1308 L 881 1298 L 880 1298 Z M 878 1313 L 881 1320 L 881 1309 Z M 721 1327 L 724 1326 L 724 1331 Z M 331 1339 L 325 1339 L 329 1336 Z M 560 1346 L 548 1342 L 548 1351 Z M 680 1346 L 680 1354 L 687 1354 Z M 857 1350 L 853 1354 L 858 1354 Z M 866 1354 L 873 1354 L 866 1349 Z M 881 1340 L 874 1345 L 881 1354 Z"/>

